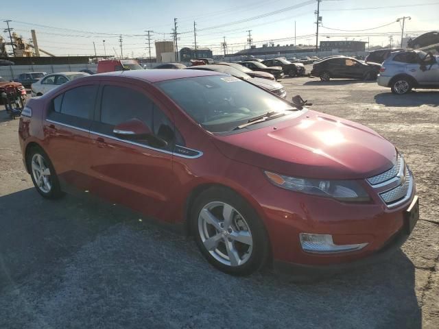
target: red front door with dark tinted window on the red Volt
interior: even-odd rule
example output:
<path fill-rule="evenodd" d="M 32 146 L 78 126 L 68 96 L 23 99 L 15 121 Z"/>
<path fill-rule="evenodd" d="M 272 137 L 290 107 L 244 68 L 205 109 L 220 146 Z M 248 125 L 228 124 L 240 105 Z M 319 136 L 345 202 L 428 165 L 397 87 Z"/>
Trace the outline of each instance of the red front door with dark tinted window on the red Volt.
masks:
<path fill-rule="evenodd" d="M 145 90 L 131 84 L 108 82 L 99 94 L 102 101 L 91 127 L 91 192 L 154 216 L 167 206 L 175 182 L 173 145 L 160 148 L 151 141 L 128 141 L 112 130 L 137 118 L 156 131 L 155 104 Z"/>

